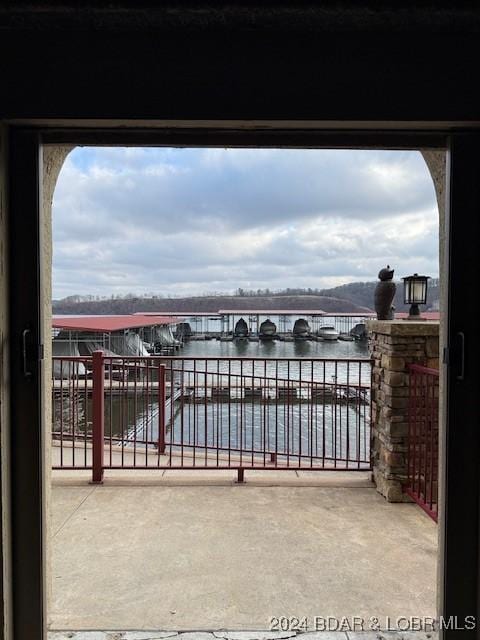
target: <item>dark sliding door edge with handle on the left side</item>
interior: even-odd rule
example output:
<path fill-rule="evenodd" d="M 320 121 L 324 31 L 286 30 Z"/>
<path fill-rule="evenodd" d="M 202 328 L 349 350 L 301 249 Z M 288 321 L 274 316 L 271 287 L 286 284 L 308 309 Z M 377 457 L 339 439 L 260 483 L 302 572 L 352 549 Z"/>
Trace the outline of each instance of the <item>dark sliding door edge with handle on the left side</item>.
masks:
<path fill-rule="evenodd" d="M 41 142 L 9 132 L 11 616 L 15 638 L 45 628 L 42 401 Z"/>

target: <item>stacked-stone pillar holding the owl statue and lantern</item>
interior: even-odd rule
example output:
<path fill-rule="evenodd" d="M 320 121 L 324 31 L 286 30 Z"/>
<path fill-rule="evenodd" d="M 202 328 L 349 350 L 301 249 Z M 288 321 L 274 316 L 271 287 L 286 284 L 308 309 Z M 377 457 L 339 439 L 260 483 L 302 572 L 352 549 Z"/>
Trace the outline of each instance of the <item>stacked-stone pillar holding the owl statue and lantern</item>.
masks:
<path fill-rule="evenodd" d="M 372 372 L 373 479 L 388 502 L 409 502 L 407 478 L 408 365 L 438 369 L 438 322 L 367 322 Z"/>

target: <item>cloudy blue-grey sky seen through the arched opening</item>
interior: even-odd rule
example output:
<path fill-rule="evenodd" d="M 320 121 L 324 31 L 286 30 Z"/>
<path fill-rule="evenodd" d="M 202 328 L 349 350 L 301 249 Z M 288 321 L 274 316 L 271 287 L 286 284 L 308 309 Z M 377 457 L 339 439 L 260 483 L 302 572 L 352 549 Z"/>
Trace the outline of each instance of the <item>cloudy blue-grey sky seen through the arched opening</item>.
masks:
<path fill-rule="evenodd" d="M 77 148 L 54 195 L 54 297 L 438 275 L 418 152 Z"/>

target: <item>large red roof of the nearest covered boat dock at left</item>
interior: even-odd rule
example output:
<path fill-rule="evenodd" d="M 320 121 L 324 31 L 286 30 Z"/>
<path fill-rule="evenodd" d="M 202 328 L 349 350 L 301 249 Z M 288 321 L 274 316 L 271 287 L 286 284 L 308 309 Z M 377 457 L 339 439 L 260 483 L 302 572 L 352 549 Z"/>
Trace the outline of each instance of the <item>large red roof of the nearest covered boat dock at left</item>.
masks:
<path fill-rule="evenodd" d="M 69 329 L 70 331 L 91 331 L 93 333 L 110 333 L 124 329 L 140 329 L 155 325 L 175 324 L 178 318 L 173 316 L 54 316 L 54 329 Z"/>

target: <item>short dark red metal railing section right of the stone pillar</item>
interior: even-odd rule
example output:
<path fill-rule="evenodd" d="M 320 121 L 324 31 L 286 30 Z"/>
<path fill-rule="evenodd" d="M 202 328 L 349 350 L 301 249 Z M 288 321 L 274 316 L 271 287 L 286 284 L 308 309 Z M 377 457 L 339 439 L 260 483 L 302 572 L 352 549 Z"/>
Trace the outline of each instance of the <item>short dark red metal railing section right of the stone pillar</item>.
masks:
<path fill-rule="evenodd" d="M 404 491 L 435 521 L 438 517 L 437 369 L 409 365 L 408 480 Z"/>

